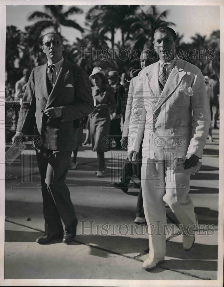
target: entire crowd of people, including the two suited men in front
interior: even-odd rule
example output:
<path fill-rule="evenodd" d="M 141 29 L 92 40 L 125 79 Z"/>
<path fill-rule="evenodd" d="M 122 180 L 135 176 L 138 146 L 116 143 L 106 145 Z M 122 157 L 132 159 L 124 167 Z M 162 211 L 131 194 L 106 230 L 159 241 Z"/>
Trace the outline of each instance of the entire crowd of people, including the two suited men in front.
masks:
<path fill-rule="evenodd" d="M 197 224 L 188 195 L 190 174 L 177 173 L 170 181 L 173 158 L 167 156 L 167 151 L 174 148 L 176 157 L 186 157 L 185 169 L 198 163 L 207 135 L 213 141 L 211 127 L 217 128 L 219 84 L 214 75 L 203 77 L 198 67 L 181 60 L 175 52 L 177 45 L 175 31 L 161 27 L 154 34 L 158 62 L 150 65 L 145 49 L 141 53 L 141 69 L 130 71 L 128 77 L 118 71 L 106 75 L 101 67 L 94 67 L 87 75 L 63 58 L 59 35 L 47 33 L 43 37 L 47 63 L 35 67 L 29 79 L 24 70 L 16 84 L 18 97 L 23 99 L 12 139 L 14 142 L 27 135 L 31 126 L 34 136 L 42 139 L 36 146 L 36 156 L 43 186 L 46 235 L 36 242 L 45 244 L 62 238 L 67 244 L 76 235 L 78 220 L 65 179 L 68 168 L 77 167 L 84 124 L 84 144 L 91 143 L 97 154 L 97 177 L 106 172 L 104 153 L 110 149 L 105 144 L 108 138 L 113 140 L 113 148 L 127 150 L 120 182 L 114 187 L 127 192 L 130 177 L 140 179 L 134 220 L 137 224 L 156 226 L 158 220 L 165 224 L 165 202 L 184 230 Z M 150 231 L 157 232 L 152 228 Z M 143 263 L 147 270 L 164 262 L 165 236 L 156 235 L 149 235 L 150 257 Z M 184 234 L 183 248 L 188 251 L 193 244 L 194 234 Z"/>

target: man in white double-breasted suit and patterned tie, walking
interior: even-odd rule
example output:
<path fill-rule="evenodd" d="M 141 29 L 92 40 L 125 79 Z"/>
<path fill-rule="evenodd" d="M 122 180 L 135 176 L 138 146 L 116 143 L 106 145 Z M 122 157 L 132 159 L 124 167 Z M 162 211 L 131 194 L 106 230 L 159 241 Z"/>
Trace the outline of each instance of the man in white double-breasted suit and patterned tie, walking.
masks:
<path fill-rule="evenodd" d="M 159 61 L 139 74 L 132 102 L 128 158 L 135 162 L 142 136 L 142 195 L 148 224 L 149 258 L 142 268 L 164 262 L 168 203 L 183 227 L 183 248 L 194 244 L 197 218 L 188 195 L 190 174 L 169 169 L 174 158 L 186 157 L 185 169 L 202 157 L 211 116 L 204 77 L 200 69 L 176 55 L 173 29 L 158 28 L 154 48 Z M 191 228 L 189 228 L 191 227 Z"/>

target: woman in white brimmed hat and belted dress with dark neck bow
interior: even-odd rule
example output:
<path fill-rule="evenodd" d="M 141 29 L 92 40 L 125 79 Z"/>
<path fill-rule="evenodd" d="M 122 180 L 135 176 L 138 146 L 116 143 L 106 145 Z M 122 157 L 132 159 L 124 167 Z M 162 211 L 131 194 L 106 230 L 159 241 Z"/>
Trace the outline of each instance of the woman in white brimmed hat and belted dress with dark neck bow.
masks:
<path fill-rule="evenodd" d="M 114 90 L 106 86 L 105 72 L 100 67 L 94 67 L 90 75 L 92 81 L 92 96 L 95 110 L 90 116 L 90 137 L 92 150 L 97 152 L 98 168 L 97 177 L 102 177 L 105 172 L 104 152 L 107 152 L 106 138 L 109 136 L 110 115 L 109 108 L 115 106 Z"/>

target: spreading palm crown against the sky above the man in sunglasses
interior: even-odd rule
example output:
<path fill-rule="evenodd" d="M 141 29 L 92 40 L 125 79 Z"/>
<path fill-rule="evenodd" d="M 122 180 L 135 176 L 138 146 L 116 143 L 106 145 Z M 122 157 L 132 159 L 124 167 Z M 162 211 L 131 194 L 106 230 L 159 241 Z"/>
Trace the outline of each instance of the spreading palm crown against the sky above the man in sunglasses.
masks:
<path fill-rule="evenodd" d="M 73 27 L 80 32 L 84 32 L 83 28 L 74 20 L 69 20 L 68 16 L 74 13 L 81 14 L 83 10 L 72 6 L 63 12 L 63 5 L 44 5 L 45 12 L 35 11 L 29 17 L 29 21 L 37 20 L 33 24 L 32 29 L 41 32 L 46 28 L 53 27 L 55 33 L 61 36 L 61 25 Z"/>

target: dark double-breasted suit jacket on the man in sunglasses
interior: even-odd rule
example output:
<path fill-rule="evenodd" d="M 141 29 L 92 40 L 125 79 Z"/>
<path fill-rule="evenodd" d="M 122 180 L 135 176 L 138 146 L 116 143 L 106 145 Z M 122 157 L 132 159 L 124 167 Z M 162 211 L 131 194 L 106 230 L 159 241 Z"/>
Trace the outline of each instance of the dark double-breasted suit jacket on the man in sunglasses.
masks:
<path fill-rule="evenodd" d="M 77 146 L 79 119 L 94 110 L 90 81 L 86 72 L 64 60 L 53 89 L 49 90 L 47 63 L 35 67 L 24 93 L 17 131 L 27 134 L 30 127 L 37 148 L 71 151 Z M 61 107 L 62 117 L 49 118 L 47 108 Z"/>

